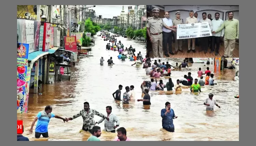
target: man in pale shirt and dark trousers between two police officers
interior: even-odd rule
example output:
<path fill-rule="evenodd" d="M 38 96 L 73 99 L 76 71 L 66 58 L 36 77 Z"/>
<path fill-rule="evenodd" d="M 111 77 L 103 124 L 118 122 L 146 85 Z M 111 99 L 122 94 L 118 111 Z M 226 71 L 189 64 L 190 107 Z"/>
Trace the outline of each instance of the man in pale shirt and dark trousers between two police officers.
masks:
<path fill-rule="evenodd" d="M 173 27 L 172 19 L 169 18 L 169 12 L 165 12 L 164 16 L 165 18 L 163 18 L 163 22 L 165 22 L 167 26 L 172 28 Z M 169 46 L 169 53 L 174 55 L 174 53 L 172 52 L 172 31 L 165 28 L 164 26 L 162 27 L 162 30 L 163 30 L 163 49 L 165 50 L 165 56 L 170 57 L 167 51 L 167 43 Z"/>

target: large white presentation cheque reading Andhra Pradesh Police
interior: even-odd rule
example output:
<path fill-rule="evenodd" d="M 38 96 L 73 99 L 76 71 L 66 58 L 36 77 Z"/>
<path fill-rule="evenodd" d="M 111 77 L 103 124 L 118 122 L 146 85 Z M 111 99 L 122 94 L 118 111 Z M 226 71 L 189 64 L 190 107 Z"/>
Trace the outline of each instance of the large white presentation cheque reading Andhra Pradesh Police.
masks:
<path fill-rule="evenodd" d="M 177 39 L 212 36 L 208 22 L 177 25 Z"/>

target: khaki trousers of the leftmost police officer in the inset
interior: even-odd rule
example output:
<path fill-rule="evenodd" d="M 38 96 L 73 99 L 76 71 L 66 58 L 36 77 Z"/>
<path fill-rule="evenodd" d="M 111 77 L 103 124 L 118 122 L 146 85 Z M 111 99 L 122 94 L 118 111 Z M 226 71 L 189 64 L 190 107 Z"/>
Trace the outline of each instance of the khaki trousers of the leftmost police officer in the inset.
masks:
<path fill-rule="evenodd" d="M 163 58 L 163 36 L 162 33 L 158 35 L 151 34 L 151 38 L 153 39 L 152 43 L 152 51 L 154 58 Z"/>

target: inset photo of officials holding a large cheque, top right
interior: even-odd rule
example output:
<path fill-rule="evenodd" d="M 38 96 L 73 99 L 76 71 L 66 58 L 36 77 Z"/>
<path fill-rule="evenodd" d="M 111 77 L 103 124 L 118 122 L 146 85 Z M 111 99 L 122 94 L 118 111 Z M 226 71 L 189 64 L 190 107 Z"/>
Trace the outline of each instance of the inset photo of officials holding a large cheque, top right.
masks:
<path fill-rule="evenodd" d="M 239 57 L 239 5 L 147 5 L 147 56 Z"/>

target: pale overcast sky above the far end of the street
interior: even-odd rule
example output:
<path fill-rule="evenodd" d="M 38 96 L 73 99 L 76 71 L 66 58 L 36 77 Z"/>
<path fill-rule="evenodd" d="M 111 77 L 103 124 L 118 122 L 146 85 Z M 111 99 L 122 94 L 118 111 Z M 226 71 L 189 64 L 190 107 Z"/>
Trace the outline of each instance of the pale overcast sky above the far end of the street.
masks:
<path fill-rule="evenodd" d="M 91 6 L 91 5 L 86 5 Z M 128 12 L 128 6 L 130 5 L 124 5 L 124 11 L 125 14 Z M 134 9 L 134 5 L 131 5 Z M 89 9 L 95 10 L 96 15 L 99 17 L 99 15 L 102 15 L 102 18 L 113 18 L 120 16 L 120 13 L 122 11 L 123 5 L 96 5 L 96 7 L 91 7 Z"/>

